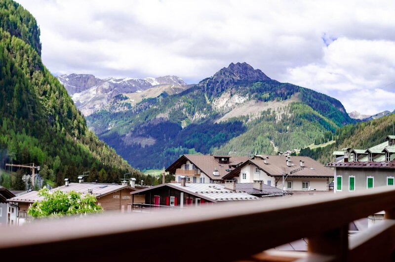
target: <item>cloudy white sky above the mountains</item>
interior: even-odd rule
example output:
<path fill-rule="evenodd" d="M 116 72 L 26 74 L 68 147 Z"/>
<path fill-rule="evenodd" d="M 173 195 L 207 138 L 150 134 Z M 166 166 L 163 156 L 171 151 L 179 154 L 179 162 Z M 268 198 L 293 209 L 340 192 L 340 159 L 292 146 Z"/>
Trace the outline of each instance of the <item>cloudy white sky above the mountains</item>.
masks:
<path fill-rule="evenodd" d="M 395 1 L 17 0 L 36 18 L 54 74 L 177 75 L 231 62 L 338 98 L 395 109 Z"/>

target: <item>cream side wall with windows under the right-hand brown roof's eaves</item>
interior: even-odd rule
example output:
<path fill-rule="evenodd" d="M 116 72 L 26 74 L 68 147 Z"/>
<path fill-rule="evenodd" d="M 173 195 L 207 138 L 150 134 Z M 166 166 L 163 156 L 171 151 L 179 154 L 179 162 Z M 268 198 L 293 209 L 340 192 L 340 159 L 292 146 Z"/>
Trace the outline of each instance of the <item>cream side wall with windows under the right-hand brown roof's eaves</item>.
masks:
<path fill-rule="evenodd" d="M 329 190 L 329 178 L 327 177 L 290 177 L 285 180 L 284 189 L 287 191 L 307 191 L 316 189 L 317 191 Z M 290 187 L 291 186 L 291 187 Z M 282 188 L 282 178 L 277 182 L 277 187 Z"/>

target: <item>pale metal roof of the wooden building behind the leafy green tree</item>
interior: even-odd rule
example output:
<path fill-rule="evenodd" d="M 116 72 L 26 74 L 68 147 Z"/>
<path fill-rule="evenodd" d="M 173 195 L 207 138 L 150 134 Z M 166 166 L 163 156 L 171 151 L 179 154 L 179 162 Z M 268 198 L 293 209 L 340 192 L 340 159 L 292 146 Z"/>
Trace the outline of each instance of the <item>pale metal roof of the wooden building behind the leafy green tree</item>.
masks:
<path fill-rule="evenodd" d="M 81 193 L 82 196 L 88 193 L 88 189 L 92 189 L 92 193 L 96 198 L 100 198 L 104 195 L 110 194 L 112 192 L 116 192 L 122 190 L 124 188 L 130 188 L 135 190 L 134 188 L 127 186 L 127 185 L 118 185 L 118 184 L 100 184 L 100 183 L 70 183 L 69 186 L 59 186 L 53 188 L 49 191 L 63 191 L 65 193 L 70 191 L 76 191 Z M 36 201 L 41 201 L 44 199 L 43 197 L 38 196 L 38 191 L 31 191 L 26 194 L 15 196 L 13 198 L 7 199 L 8 202 L 28 202 L 33 203 Z"/>

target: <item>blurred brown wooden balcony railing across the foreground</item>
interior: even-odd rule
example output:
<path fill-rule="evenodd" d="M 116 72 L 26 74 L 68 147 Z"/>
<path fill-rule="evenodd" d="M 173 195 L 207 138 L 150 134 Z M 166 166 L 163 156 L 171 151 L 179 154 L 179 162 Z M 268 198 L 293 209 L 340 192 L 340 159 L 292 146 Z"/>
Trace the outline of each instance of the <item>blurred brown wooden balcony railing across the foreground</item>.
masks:
<path fill-rule="evenodd" d="M 350 222 L 385 220 L 349 235 Z M 154 214 L 103 214 L 0 228 L 0 254 L 57 261 L 393 261 L 395 189 L 221 203 Z M 273 248 L 301 238 L 307 252 Z M 105 248 L 105 249 L 104 249 Z M 39 252 L 39 253 L 37 253 Z"/>

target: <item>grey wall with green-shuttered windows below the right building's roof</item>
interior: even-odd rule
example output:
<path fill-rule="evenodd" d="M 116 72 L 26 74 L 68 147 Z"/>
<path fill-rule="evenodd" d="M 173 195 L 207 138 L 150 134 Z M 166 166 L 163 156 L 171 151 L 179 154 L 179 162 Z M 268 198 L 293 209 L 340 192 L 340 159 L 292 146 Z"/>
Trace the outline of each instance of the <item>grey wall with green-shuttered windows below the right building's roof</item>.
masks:
<path fill-rule="evenodd" d="M 394 185 L 394 169 L 375 168 L 336 168 L 334 191 L 354 191 L 352 190 L 354 178 L 354 190 L 366 189 L 369 187 Z M 341 182 L 341 183 L 340 183 Z M 351 188 L 350 188 L 351 184 Z"/>

